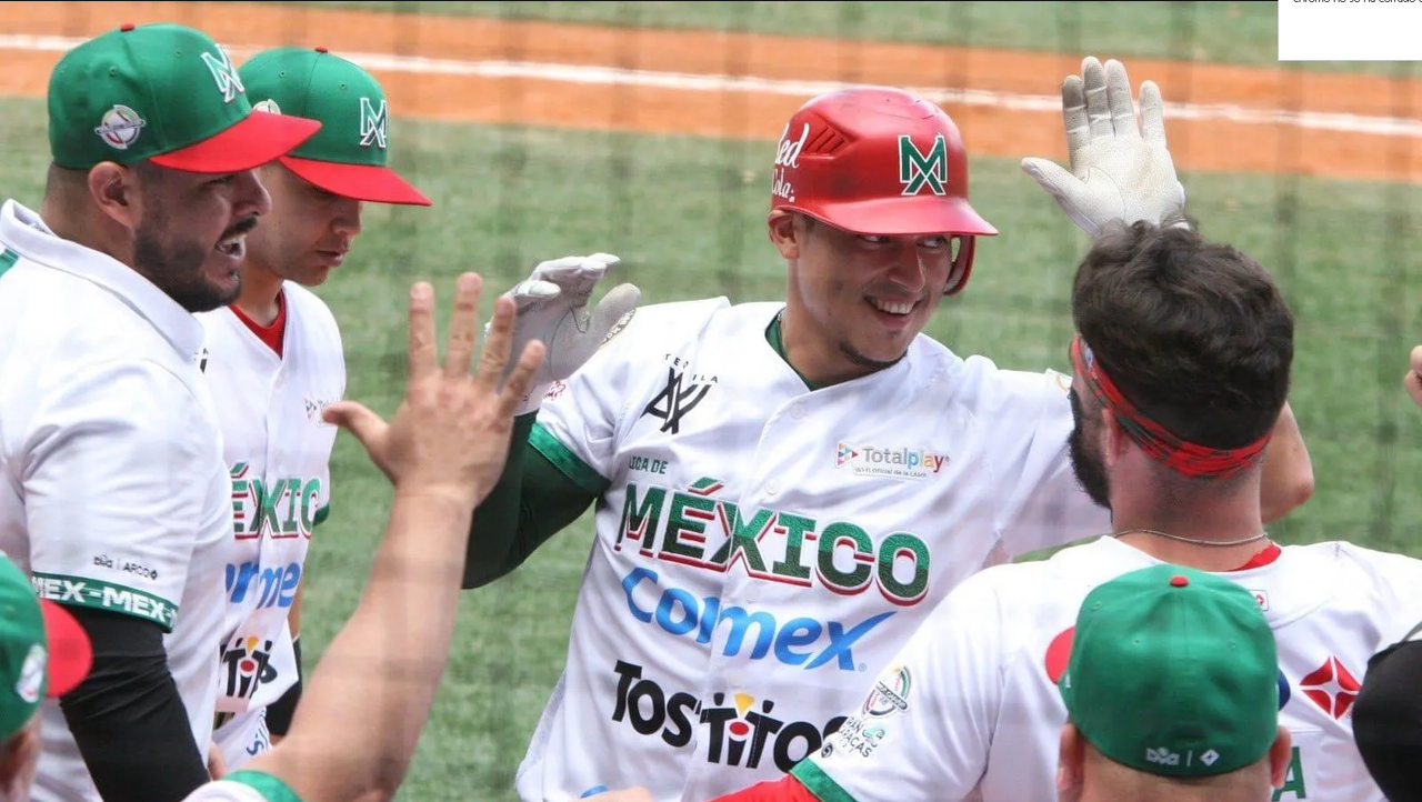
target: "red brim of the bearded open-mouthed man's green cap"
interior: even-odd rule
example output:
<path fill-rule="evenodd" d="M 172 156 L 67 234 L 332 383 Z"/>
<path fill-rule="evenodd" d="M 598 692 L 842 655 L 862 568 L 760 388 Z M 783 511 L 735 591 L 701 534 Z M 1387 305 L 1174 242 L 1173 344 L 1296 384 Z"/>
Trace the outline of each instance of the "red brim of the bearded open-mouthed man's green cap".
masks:
<path fill-rule="evenodd" d="M 185 172 L 242 172 L 274 162 L 320 129 L 321 124 L 316 119 L 255 109 L 216 137 L 148 161 Z"/>

